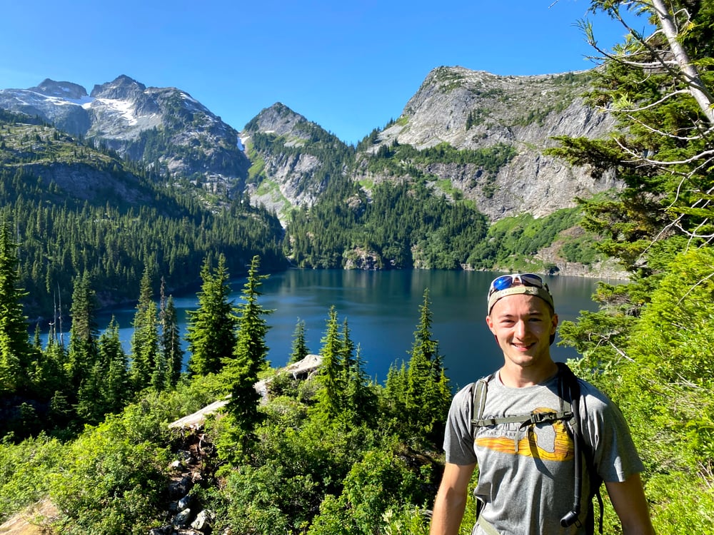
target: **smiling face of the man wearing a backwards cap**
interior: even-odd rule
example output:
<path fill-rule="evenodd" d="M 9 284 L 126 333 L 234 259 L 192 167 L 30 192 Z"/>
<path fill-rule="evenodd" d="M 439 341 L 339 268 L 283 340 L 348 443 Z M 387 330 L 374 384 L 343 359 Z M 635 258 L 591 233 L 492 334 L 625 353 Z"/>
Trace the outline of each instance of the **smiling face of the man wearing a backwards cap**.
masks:
<path fill-rule="evenodd" d="M 550 335 L 558 315 L 535 295 L 508 295 L 498 300 L 486 324 L 503 350 L 506 365 L 531 367 L 550 363 Z"/>

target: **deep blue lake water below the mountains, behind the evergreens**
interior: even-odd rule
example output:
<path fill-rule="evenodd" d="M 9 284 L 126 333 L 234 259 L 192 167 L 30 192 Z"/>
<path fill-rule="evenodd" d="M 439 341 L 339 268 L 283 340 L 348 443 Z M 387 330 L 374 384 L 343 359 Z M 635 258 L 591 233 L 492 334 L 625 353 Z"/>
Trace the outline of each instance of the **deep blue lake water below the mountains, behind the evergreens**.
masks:
<path fill-rule="evenodd" d="M 268 360 L 273 367 L 288 361 L 298 318 L 305 322 L 311 352 L 318 353 L 326 330 L 328 311 L 334 305 L 340 323 L 346 318 L 351 339 L 361 347 L 366 372 L 378 382 L 386 379 L 393 363 L 408 361 L 423 302 L 429 290 L 433 337 L 439 342 L 446 372 L 453 387 L 495 370 L 503 362 L 486 322 L 486 292 L 496 272 L 399 270 L 364 272 L 347 270 L 288 270 L 263 281 L 261 306 L 274 310 L 266 317 Z M 231 281 L 231 299 L 241 302 L 245 279 Z M 596 310 L 590 296 L 597 281 L 583 277 L 548 277 L 560 320 L 574 320 L 580 310 Z M 138 289 L 137 289 L 138 292 Z M 195 310 L 195 294 L 175 295 L 174 304 L 186 332 L 186 310 Z M 135 309 L 102 312 L 101 329 L 116 316 L 121 339 L 129 352 Z M 556 339 L 556 343 L 557 343 Z M 184 347 L 186 346 L 184 342 Z M 553 345 L 555 360 L 577 357 L 569 347 Z M 188 358 L 188 355 L 186 356 Z"/>

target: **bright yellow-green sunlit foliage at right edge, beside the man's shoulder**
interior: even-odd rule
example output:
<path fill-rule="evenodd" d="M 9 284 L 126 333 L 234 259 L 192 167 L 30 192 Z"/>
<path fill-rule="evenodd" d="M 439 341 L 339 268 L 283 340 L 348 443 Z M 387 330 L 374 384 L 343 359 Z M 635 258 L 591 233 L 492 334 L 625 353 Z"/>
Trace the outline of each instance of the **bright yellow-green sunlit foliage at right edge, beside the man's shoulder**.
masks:
<path fill-rule="evenodd" d="M 633 329 L 622 371 L 623 401 L 655 471 L 698 472 L 702 486 L 714 459 L 713 277 L 709 248 L 675 258 Z"/>

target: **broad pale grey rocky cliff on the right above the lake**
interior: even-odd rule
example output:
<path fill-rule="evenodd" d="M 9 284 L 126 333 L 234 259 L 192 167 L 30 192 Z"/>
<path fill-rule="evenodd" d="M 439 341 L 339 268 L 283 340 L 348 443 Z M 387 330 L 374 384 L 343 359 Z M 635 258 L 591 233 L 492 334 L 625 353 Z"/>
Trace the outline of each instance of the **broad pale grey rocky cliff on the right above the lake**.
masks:
<path fill-rule="evenodd" d="M 449 143 L 479 150 L 512 146 L 516 156 L 495 176 L 476 165 L 427 165 L 424 170 L 448 179 L 465 198 L 491 218 L 528 212 L 536 217 L 573 206 L 573 199 L 617 187 L 612 175 L 595 180 L 543 150 L 553 136 L 605 136 L 610 116 L 585 105 L 590 75 L 496 76 L 461 67 L 431 71 L 406 103 L 398 121 L 379 133 L 369 149 L 395 141 L 416 148 Z"/>

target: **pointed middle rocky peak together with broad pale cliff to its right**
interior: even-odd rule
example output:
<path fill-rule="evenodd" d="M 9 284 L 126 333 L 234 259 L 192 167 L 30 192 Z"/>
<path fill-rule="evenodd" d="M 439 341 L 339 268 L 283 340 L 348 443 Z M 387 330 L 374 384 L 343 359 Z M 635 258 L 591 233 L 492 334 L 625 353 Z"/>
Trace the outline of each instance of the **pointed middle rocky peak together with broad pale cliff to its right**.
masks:
<path fill-rule="evenodd" d="M 448 198 L 458 192 L 475 201 L 492 221 L 523 212 L 540 217 L 572 207 L 577 196 L 618 187 L 613 175 L 595 179 L 587 169 L 543 154 L 555 144 L 553 136 L 596 138 L 613 128 L 610 116 L 585 104 L 581 95 L 589 81 L 588 72 L 496 76 L 461 67 L 435 68 L 401 117 L 367 136 L 338 173 L 365 184 L 413 179 L 408 170 L 395 173 L 393 165 L 375 170 L 371 164 L 381 148 L 396 144 L 420 151 L 441 143 L 460 151 L 501 146 L 513 156 L 497 172 L 475 163 L 424 158 L 401 164 L 418 168 L 434 184 L 446 181 Z M 264 137 L 259 150 L 251 153 L 256 170 L 248 186 L 251 200 L 275 209 L 283 220 L 291 208 L 312 205 L 319 198 L 325 182 L 316 180 L 316 173 L 324 170 L 326 157 L 338 158 L 348 150 L 312 150 L 313 142 L 328 133 L 281 103 L 261 111 L 242 133 L 248 144 L 256 134 Z"/>

